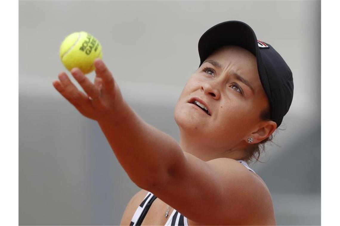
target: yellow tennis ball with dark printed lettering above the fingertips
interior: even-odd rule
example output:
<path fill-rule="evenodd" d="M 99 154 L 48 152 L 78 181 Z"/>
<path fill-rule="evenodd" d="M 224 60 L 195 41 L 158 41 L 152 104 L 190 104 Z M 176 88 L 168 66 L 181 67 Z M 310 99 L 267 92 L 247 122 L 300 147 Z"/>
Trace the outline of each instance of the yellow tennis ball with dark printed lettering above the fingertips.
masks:
<path fill-rule="evenodd" d="M 95 59 L 102 59 L 102 46 L 89 33 L 75 32 L 62 42 L 59 56 L 67 70 L 78 67 L 84 74 L 88 74 L 95 69 Z"/>

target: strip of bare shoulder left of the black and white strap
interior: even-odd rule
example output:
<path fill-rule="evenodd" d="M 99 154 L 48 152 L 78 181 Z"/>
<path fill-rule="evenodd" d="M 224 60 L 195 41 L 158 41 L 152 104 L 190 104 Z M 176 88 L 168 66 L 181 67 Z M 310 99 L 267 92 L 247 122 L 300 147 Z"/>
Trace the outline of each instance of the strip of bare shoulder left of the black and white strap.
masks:
<path fill-rule="evenodd" d="M 128 205 L 126 205 L 125 207 L 120 225 L 130 225 L 133 214 L 135 213 L 137 207 L 143 201 L 147 193 L 147 190 L 141 189 L 130 199 Z"/>

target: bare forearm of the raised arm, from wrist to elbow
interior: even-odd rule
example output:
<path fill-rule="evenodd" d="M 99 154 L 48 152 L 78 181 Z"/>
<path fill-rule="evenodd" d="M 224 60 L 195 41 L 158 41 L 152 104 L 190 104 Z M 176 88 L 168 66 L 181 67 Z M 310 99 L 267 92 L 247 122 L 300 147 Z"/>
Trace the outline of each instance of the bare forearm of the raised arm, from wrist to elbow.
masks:
<path fill-rule="evenodd" d="M 125 102 L 118 114 L 120 118 L 98 123 L 119 163 L 137 186 L 162 186 L 185 161 L 179 144 L 143 121 Z"/>

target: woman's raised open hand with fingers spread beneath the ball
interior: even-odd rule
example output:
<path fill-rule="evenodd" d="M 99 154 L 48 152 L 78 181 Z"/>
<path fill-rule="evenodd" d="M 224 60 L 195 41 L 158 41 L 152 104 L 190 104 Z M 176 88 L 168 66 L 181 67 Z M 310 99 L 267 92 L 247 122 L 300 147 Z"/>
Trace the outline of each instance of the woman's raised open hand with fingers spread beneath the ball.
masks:
<path fill-rule="evenodd" d="M 72 76 L 84 89 L 85 93 L 71 82 L 65 72 L 53 81 L 54 88 L 85 117 L 105 121 L 119 114 L 123 98 L 112 74 L 101 59 L 96 59 L 96 78 L 92 83 L 79 68 L 71 70 Z"/>

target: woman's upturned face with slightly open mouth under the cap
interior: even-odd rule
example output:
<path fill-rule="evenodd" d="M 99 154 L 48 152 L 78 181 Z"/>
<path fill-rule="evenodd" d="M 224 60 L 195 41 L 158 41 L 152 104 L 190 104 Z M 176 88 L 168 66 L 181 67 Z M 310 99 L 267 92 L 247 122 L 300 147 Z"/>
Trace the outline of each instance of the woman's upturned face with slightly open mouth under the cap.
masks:
<path fill-rule="evenodd" d="M 195 100 L 208 111 L 193 104 Z M 268 106 L 255 56 L 238 46 L 224 46 L 189 78 L 174 117 L 181 136 L 216 148 L 233 148 L 259 126 L 259 115 Z"/>

